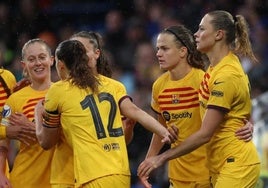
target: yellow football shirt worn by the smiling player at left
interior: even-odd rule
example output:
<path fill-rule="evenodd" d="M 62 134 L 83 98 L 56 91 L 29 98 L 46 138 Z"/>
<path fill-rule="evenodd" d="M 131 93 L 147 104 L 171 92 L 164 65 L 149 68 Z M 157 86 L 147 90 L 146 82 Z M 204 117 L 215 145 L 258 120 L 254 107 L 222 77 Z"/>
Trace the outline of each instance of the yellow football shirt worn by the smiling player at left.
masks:
<path fill-rule="evenodd" d="M 34 120 L 34 108 L 45 97 L 47 90 L 36 91 L 27 86 L 13 93 L 6 101 L 12 113 L 23 113 L 30 121 Z M 12 187 L 50 187 L 50 167 L 54 150 L 45 151 L 37 141 L 27 146 L 20 143 L 13 169 L 10 173 Z"/>

